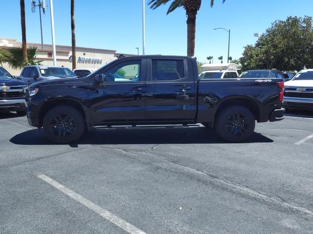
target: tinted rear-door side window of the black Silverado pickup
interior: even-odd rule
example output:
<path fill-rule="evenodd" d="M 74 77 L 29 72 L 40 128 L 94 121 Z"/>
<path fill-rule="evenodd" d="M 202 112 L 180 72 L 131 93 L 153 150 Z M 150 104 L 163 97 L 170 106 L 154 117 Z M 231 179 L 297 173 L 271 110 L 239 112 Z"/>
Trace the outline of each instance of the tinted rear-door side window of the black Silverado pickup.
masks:
<path fill-rule="evenodd" d="M 177 80 L 184 77 L 183 60 L 152 59 L 152 80 Z"/>

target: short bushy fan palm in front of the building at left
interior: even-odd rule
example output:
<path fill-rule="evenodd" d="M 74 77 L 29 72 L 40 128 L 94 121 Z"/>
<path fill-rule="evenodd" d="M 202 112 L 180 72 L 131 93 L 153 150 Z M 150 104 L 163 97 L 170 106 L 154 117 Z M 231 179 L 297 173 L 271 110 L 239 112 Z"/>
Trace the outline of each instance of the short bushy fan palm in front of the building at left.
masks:
<path fill-rule="evenodd" d="M 35 46 L 30 46 L 27 49 L 27 62 L 23 59 L 23 49 L 21 47 L 12 47 L 8 49 L 8 53 L 4 55 L 4 60 L 13 69 L 21 69 L 26 65 L 41 65 L 41 61 L 36 61 L 38 49 Z"/>

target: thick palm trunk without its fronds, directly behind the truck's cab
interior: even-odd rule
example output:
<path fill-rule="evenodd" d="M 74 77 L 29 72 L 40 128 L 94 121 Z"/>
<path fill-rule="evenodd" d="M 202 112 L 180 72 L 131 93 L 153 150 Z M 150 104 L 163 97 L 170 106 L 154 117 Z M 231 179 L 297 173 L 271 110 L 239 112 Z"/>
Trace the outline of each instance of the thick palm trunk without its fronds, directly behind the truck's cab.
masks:
<path fill-rule="evenodd" d="M 187 14 L 187 56 L 195 55 L 196 10 L 186 10 Z"/>

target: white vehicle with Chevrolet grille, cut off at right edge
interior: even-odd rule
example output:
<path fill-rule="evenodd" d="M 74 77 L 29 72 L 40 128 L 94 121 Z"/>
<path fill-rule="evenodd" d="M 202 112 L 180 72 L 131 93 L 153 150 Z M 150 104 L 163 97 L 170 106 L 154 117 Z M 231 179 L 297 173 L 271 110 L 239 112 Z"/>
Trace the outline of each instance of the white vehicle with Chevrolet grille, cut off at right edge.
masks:
<path fill-rule="evenodd" d="M 313 69 L 301 70 L 285 82 L 283 106 L 286 109 L 313 110 Z"/>

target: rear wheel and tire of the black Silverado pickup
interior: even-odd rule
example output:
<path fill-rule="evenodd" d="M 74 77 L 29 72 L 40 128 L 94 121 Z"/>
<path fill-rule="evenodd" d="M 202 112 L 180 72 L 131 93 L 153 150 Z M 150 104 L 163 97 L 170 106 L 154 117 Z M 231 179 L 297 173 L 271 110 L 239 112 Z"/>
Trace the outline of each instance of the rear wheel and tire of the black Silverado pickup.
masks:
<path fill-rule="evenodd" d="M 254 132 L 255 119 L 244 106 L 229 106 L 223 109 L 215 121 L 215 130 L 224 140 L 229 142 L 245 141 Z"/>

